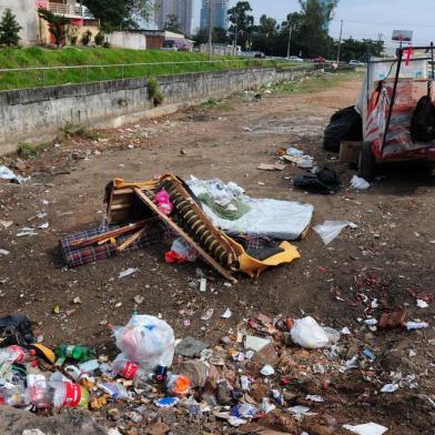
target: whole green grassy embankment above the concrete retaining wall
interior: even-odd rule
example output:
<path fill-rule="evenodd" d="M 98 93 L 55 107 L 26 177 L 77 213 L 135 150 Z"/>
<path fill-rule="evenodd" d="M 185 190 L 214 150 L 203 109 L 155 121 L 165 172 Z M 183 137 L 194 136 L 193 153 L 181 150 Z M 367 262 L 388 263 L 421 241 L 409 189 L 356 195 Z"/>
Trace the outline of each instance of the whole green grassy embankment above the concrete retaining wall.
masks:
<path fill-rule="evenodd" d="M 194 71 L 213 71 L 254 65 L 276 65 L 276 61 L 236 57 L 214 57 L 209 63 L 208 54 L 169 52 L 159 50 L 128 50 L 87 47 L 67 47 L 50 50 L 39 47 L 26 49 L 0 49 L 0 69 L 32 67 L 99 65 L 94 68 L 57 69 L 50 71 L 11 71 L 0 74 L 0 90 L 36 88 L 51 84 L 81 83 L 85 81 L 114 80 L 164 75 Z M 165 64 L 161 64 L 161 63 Z M 194 63 L 173 63 L 194 62 Z M 125 67 L 103 67 L 109 64 Z M 150 63 L 132 65 L 132 63 Z M 160 64 L 159 64 L 160 63 Z M 300 67 L 300 64 L 294 64 Z"/>

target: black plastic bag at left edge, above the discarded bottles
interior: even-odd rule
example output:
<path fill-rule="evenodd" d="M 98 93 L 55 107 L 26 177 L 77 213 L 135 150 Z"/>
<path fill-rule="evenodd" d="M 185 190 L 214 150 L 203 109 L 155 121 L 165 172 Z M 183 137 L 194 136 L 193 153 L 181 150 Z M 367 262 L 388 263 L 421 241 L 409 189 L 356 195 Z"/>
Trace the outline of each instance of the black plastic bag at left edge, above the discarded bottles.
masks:
<path fill-rule="evenodd" d="M 19 344 L 26 346 L 33 343 L 32 323 L 22 314 L 0 317 L 0 347 Z"/>

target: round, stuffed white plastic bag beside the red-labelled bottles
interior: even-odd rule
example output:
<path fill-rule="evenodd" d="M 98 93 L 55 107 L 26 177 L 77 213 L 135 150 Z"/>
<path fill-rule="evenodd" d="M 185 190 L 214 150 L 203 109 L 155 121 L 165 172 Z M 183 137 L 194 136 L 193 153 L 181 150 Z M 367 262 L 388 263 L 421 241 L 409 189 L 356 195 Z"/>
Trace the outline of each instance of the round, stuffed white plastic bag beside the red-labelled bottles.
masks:
<path fill-rule="evenodd" d="M 151 315 L 133 315 L 125 326 L 114 330 L 118 348 L 144 371 L 172 364 L 175 337 L 172 327 Z"/>

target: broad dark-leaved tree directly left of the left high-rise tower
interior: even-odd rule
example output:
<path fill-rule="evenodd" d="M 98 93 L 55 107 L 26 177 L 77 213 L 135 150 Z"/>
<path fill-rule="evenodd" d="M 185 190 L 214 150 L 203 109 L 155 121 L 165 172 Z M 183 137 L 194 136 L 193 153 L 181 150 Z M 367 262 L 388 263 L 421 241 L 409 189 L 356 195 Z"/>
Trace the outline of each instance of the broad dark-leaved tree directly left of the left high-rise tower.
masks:
<path fill-rule="evenodd" d="M 153 0 L 83 0 L 83 4 L 100 20 L 105 33 L 136 29 L 138 20 L 148 20 L 154 10 Z"/>

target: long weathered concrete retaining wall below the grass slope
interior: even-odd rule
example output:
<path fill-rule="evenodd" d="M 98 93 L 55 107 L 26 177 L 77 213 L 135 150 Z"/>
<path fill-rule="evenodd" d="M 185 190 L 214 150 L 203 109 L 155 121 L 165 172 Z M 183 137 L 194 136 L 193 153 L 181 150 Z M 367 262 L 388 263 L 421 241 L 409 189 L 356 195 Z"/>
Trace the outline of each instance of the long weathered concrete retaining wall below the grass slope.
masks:
<path fill-rule="evenodd" d="M 21 89 L 0 92 L 0 155 L 21 142 L 41 143 L 55 138 L 67 123 L 89 128 L 118 128 L 143 118 L 160 117 L 212 97 L 225 97 L 269 82 L 297 80 L 307 69 L 273 68 L 198 72 L 158 78 L 163 105 L 154 108 L 148 79 Z"/>

